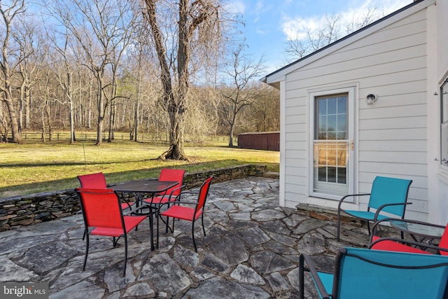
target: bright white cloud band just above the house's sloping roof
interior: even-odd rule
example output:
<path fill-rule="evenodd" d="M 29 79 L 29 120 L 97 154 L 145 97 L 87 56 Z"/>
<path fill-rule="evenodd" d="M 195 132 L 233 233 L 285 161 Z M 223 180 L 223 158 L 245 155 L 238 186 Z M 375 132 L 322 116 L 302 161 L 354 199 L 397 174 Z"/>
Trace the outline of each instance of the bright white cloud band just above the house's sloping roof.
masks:
<path fill-rule="evenodd" d="M 330 12 L 323 15 L 315 15 L 308 18 L 290 18 L 287 15 L 283 17 L 281 30 L 286 35 L 286 39 L 307 39 L 307 34 L 316 33 L 319 29 L 328 24 L 328 18 L 337 15 L 337 25 L 339 25 L 340 34 L 347 34 L 346 28 L 351 24 L 362 22 L 366 15 L 374 8 L 372 18 L 377 20 L 384 15 L 412 3 L 412 0 L 365 0 L 361 3 L 352 4 L 353 7 L 344 8 L 342 12 Z M 342 37 L 339 36 L 339 37 Z"/>

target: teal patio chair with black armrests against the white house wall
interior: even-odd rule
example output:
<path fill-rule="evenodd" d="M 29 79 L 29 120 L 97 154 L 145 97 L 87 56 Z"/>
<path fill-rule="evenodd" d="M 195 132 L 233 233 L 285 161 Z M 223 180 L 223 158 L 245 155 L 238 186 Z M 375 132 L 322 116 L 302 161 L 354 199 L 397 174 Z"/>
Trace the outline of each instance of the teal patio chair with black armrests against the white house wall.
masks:
<path fill-rule="evenodd" d="M 411 202 L 407 202 L 407 193 L 409 192 L 411 183 L 412 180 L 377 176 L 372 183 L 372 190 L 370 193 L 352 194 L 342 197 L 337 206 L 337 241 L 339 241 L 341 230 L 341 211 L 350 216 L 367 221 L 369 235 L 370 221 L 375 223 L 391 216 L 397 216 L 402 219 L 405 218 L 406 205 L 411 204 Z M 370 195 L 367 211 L 346 210 L 341 208 L 342 202 L 347 198 L 366 195 Z M 374 209 L 374 211 L 371 211 L 371 209 Z M 388 214 L 384 214 L 384 212 Z"/>

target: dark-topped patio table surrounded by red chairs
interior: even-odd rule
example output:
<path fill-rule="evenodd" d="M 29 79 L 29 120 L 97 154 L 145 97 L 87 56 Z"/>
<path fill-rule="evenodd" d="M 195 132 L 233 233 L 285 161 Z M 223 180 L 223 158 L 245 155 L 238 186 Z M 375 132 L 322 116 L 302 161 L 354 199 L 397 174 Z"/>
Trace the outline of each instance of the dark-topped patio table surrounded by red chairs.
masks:
<path fill-rule="evenodd" d="M 116 186 L 111 186 L 113 190 L 120 193 L 134 193 L 136 195 L 136 205 L 146 205 L 149 209 L 149 228 L 151 230 L 151 250 L 154 250 L 154 236 L 153 236 L 153 209 L 151 204 L 147 204 L 141 198 L 144 193 L 151 193 L 151 198 L 157 193 L 163 193 L 169 188 L 179 184 L 179 181 L 158 181 L 158 180 L 138 180 L 130 181 Z"/>

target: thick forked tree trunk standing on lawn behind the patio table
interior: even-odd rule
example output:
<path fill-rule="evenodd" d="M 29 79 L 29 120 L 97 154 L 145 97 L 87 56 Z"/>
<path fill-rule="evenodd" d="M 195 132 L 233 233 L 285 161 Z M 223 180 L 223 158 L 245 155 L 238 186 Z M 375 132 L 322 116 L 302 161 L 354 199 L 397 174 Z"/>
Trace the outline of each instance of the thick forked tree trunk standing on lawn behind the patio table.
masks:
<path fill-rule="evenodd" d="M 163 153 L 162 159 L 188 160 L 183 152 L 183 121 L 185 118 L 186 97 L 190 83 L 190 74 L 188 67 L 190 63 L 190 52 L 193 43 L 193 33 L 201 25 L 207 25 L 207 21 L 212 15 L 218 18 L 218 6 L 214 6 L 214 1 L 195 0 L 179 0 L 179 30 L 177 53 L 167 53 L 165 48 L 164 36 L 160 31 L 156 18 L 156 0 L 145 0 L 146 2 L 146 18 L 151 26 L 153 41 L 157 51 L 158 60 L 161 69 L 161 81 L 164 90 L 164 100 L 170 120 L 169 132 L 169 150 Z M 210 22 L 216 24 L 216 22 Z M 210 25 L 211 26 L 211 25 Z M 205 26 L 207 27 L 207 26 Z M 202 32 L 198 34 L 209 34 L 211 27 L 202 28 Z M 214 36 L 208 36 L 214 39 Z M 202 36 L 204 38 L 204 36 Z M 205 38 L 204 40 L 207 40 Z M 173 55 L 173 56 L 172 56 Z M 176 57 L 176 63 L 170 60 Z M 169 69 L 169 62 L 176 64 L 177 74 L 172 74 Z M 175 78 L 176 83 L 172 82 Z"/>

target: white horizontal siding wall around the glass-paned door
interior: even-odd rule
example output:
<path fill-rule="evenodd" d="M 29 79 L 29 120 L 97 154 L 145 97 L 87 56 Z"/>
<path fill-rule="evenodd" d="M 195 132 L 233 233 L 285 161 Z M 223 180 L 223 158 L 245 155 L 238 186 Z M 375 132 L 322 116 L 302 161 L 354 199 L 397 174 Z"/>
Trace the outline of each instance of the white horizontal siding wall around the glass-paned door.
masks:
<path fill-rule="evenodd" d="M 285 74 L 286 207 L 300 202 L 337 207 L 337 201 L 307 197 L 309 92 L 339 85 L 356 87 L 356 192 L 370 192 L 375 176 L 412 179 L 407 216 L 426 219 L 428 212 L 426 138 L 426 10 L 386 20 L 352 36 L 342 46 L 311 57 Z M 351 39 L 353 41 L 351 41 Z M 364 101 L 367 93 L 379 99 Z M 367 197 L 360 197 L 365 209 Z M 356 207 L 352 207 L 355 208 Z"/>

